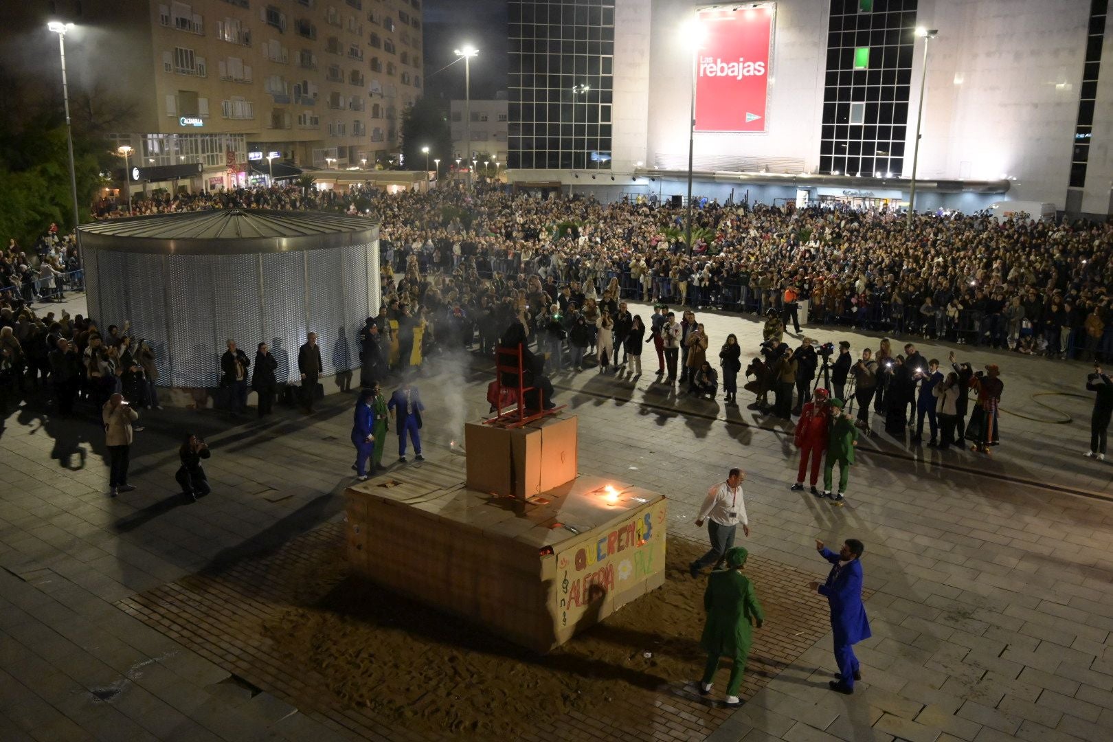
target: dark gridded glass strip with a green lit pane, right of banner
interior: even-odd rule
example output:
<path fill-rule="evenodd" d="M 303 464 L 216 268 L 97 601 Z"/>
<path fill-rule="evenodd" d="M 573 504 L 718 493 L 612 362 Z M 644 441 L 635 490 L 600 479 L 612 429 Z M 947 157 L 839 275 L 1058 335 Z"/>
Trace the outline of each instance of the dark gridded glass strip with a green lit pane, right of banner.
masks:
<path fill-rule="evenodd" d="M 917 0 L 830 6 L 819 171 L 900 176 Z"/>

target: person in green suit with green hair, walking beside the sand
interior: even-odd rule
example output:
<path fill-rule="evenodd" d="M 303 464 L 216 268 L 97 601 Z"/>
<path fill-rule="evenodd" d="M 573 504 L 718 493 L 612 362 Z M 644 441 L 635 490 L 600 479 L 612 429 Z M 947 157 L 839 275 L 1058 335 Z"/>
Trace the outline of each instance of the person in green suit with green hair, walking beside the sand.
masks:
<path fill-rule="evenodd" d="M 711 573 L 703 593 L 703 609 L 707 622 L 700 646 L 707 651 L 707 666 L 699 684 L 700 695 L 711 692 L 711 680 L 719 669 L 719 657 L 733 660 L 730 679 L 727 681 L 727 705 L 739 706 L 738 690 L 742 685 L 746 657 L 754 641 L 751 625 L 758 629 L 765 622 L 761 604 L 754 592 L 754 583 L 742 574 L 748 552 L 736 546 L 727 552 L 726 570 Z"/>

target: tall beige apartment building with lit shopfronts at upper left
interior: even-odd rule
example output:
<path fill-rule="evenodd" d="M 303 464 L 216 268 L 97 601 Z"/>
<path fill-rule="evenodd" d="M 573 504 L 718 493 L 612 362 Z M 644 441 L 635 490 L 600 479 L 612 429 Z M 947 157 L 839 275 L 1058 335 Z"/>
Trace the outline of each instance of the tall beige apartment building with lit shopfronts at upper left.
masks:
<path fill-rule="evenodd" d="M 275 167 L 372 167 L 398 150 L 402 111 L 422 91 L 421 0 L 19 4 L 0 13 L 0 61 L 38 60 L 33 73 L 55 86 L 46 23 L 73 22 L 71 96 L 118 99 L 110 140 L 132 148 L 132 190 L 243 186 L 268 155 Z"/>

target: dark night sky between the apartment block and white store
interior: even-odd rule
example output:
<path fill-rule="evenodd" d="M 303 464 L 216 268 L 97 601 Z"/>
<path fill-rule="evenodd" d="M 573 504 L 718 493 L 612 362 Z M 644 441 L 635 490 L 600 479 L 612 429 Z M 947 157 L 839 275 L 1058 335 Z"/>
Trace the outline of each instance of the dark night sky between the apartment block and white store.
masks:
<path fill-rule="evenodd" d="M 464 97 L 464 63 L 453 49 L 471 43 L 480 53 L 472 59 L 472 98 L 494 98 L 506 89 L 509 66 L 506 0 L 425 0 L 425 96 L 450 100 Z"/>

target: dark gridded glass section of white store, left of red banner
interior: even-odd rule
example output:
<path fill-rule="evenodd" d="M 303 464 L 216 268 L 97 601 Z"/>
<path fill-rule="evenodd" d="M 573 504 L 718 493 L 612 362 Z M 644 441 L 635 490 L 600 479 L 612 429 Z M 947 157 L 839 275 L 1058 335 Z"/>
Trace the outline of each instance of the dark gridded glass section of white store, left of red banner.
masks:
<path fill-rule="evenodd" d="M 613 96 L 602 59 L 614 55 L 614 0 L 510 0 L 508 21 L 509 167 L 609 168 L 599 152 L 611 151 L 612 128 L 600 115 Z"/>

